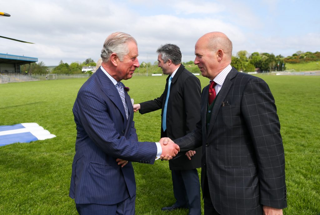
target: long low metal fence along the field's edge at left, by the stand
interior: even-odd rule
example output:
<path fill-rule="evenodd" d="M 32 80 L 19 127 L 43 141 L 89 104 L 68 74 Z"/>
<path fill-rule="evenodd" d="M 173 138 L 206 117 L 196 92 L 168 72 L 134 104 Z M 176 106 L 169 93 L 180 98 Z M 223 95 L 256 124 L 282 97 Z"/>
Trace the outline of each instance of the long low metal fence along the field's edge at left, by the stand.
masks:
<path fill-rule="evenodd" d="M 41 75 L 21 75 L 21 74 L 0 74 L 0 84 L 25 82 L 25 81 L 40 81 L 40 80 L 58 80 L 70 78 L 88 78 L 89 74 L 41 74 Z"/>

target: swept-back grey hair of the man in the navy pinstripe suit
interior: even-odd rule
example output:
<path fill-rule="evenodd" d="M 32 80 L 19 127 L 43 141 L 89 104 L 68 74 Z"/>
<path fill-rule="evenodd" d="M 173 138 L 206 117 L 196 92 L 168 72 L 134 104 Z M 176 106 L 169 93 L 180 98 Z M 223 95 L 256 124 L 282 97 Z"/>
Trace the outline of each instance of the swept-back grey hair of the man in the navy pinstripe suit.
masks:
<path fill-rule="evenodd" d="M 129 34 L 123 32 L 115 32 L 110 34 L 107 39 L 104 41 L 101 58 L 103 62 L 108 62 L 109 57 L 112 53 L 116 53 L 119 57 L 119 60 L 122 61 L 124 55 L 129 53 L 128 42 L 134 42 L 137 44 L 137 41 Z"/>

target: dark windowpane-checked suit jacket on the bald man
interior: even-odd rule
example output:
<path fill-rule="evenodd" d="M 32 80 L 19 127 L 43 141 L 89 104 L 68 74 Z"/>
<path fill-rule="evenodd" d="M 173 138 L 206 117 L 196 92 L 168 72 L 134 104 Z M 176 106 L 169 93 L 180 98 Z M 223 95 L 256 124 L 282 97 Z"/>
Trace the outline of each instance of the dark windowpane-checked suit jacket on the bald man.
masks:
<path fill-rule="evenodd" d="M 285 208 L 284 148 L 267 83 L 232 68 L 210 122 L 206 122 L 208 89 L 209 85 L 202 92 L 196 130 L 174 141 L 180 150 L 203 146 L 201 187 L 207 177 L 216 211 L 262 215 L 262 205 Z"/>

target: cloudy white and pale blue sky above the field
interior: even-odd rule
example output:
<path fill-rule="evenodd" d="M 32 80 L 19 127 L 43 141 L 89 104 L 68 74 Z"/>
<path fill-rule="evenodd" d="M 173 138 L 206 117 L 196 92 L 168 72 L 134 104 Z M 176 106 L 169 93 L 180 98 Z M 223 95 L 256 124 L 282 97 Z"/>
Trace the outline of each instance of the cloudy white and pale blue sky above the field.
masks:
<path fill-rule="evenodd" d="M 240 50 L 288 56 L 320 51 L 319 0 L 3 0 L 0 53 L 38 58 L 46 66 L 98 60 L 105 38 L 122 31 L 138 42 L 139 62 L 155 62 L 161 44 L 194 60 L 197 39 L 225 33 Z"/>

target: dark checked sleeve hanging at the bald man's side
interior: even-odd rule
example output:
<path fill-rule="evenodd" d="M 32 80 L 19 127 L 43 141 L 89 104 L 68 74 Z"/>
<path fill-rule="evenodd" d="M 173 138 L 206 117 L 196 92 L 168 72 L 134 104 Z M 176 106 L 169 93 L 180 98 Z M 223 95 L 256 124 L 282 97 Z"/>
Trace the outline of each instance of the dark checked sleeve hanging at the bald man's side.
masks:
<path fill-rule="evenodd" d="M 266 82 L 253 77 L 246 84 L 241 110 L 256 154 L 260 203 L 285 208 L 284 148 L 274 98 Z"/>

